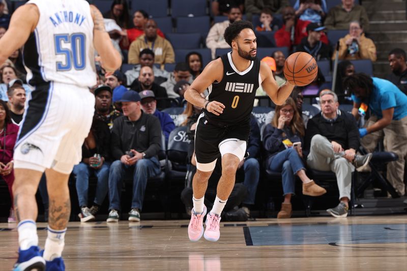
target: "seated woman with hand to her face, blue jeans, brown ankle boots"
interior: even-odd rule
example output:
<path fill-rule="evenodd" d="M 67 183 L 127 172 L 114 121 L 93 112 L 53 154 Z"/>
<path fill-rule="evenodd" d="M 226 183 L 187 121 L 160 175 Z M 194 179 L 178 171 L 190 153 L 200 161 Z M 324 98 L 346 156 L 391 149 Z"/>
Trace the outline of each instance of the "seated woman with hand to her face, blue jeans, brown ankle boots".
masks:
<path fill-rule="evenodd" d="M 263 133 L 263 145 L 267 152 L 265 166 L 272 171 L 282 172 L 284 202 L 277 218 L 290 218 L 291 197 L 295 194 L 295 175 L 303 183 L 304 195 L 321 196 L 327 191 L 305 173 L 301 147 L 305 127 L 296 103 L 288 98 L 284 104 L 276 106 L 275 112 L 272 122 L 267 124 Z"/>

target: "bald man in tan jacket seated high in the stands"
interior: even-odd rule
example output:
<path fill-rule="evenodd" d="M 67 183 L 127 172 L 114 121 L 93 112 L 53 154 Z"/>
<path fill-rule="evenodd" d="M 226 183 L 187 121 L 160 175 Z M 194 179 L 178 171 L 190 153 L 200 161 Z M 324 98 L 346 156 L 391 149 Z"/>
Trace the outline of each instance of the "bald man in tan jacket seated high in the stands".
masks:
<path fill-rule="evenodd" d="M 131 43 L 129 64 L 139 64 L 140 51 L 146 48 L 151 48 L 154 51 L 154 63 L 161 65 L 174 63 L 175 53 L 172 45 L 169 41 L 157 35 L 157 23 L 153 19 L 149 19 L 144 26 L 144 35 Z"/>

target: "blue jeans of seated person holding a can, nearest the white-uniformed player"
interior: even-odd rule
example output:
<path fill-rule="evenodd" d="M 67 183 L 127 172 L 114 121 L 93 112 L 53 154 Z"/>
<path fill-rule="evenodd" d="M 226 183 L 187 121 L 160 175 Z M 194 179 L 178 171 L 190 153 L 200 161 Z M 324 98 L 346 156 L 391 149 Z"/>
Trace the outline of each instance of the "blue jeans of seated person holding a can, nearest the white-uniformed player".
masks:
<path fill-rule="evenodd" d="M 76 175 L 76 192 L 78 193 L 79 206 L 88 206 L 89 175 L 91 173 L 94 173 L 98 178 L 94 202 L 102 205 L 109 189 L 109 168 L 109 162 L 104 162 L 99 169 L 94 169 L 82 162 L 73 167 L 73 173 Z"/>

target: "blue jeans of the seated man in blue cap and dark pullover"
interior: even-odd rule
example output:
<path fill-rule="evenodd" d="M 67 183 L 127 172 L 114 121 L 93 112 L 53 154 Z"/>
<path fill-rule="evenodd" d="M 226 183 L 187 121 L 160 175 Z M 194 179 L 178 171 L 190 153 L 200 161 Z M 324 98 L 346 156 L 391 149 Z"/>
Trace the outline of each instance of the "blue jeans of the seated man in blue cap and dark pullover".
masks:
<path fill-rule="evenodd" d="M 141 210 L 147 179 L 160 174 L 161 166 L 155 157 L 138 160 L 137 163 L 132 166 L 127 166 L 120 160 L 114 161 L 113 164 L 111 164 L 109 174 L 109 210 L 120 210 L 120 196 L 122 194 L 123 180 L 125 173 L 128 171 L 133 171 L 133 199 L 131 207 Z"/>

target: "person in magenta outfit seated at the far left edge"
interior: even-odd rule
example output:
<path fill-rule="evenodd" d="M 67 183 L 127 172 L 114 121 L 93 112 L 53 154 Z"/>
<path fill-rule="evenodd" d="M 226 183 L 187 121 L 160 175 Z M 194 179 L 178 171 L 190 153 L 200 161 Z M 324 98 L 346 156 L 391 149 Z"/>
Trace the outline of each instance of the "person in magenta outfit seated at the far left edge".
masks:
<path fill-rule="evenodd" d="M 9 193 L 11 198 L 11 208 L 8 222 L 16 222 L 14 215 L 13 204 L 13 183 L 14 183 L 14 144 L 17 140 L 18 126 L 13 124 L 10 117 L 10 111 L 7 103 L 0 100 L 0 152 L 2 152 L 2 158 L 0 159 L 0 177 L 5 180 L 9 187 Z"/>

